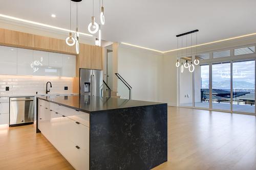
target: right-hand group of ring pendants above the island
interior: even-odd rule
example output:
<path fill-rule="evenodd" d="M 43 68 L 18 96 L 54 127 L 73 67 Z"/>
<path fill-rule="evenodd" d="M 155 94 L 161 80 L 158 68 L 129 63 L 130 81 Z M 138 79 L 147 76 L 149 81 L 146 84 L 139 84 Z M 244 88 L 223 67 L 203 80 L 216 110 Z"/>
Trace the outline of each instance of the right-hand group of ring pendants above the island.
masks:
<path fill-rule="evenodd" d="M 101 46 L 101 25 L 105 24 L 105 16 L 104 16 L 104 7 L 103 7 L 103 0 L 102 4 L 101 1 L 99 0 L 99 13 L 100 13 L 100 25 L 95 21 L 95 16 L 94 16 L 94 0 L 93 0 L 93 16 L 92 16 L 92 21 L 88 25 L 88 31 L 91 34 L 96 34 L 98 32 L 98 38 L 95 39 L 95 45 Z"/>

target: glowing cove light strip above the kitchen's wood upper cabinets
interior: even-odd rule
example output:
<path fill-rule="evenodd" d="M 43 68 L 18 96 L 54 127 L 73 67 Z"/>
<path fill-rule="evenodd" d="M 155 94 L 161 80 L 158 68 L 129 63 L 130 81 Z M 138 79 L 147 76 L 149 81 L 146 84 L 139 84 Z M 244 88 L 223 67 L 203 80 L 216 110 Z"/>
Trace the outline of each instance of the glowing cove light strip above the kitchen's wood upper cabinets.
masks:
<path fill-rule="evenodd" d="M 47 28 L 51 28 L 51 29 L 61 30 L 61 31 L 65 31 L 65 32 L 75 33 L 75 31 L 73 31 L 73 30 L 63 29 L 63 28 L 55 27 L 55 26 L 50 26 L 50 25 L 47 25 L 47 24 L 44 24 L 44 23 L 35 22 L 35 21 L 31 21 L 31 20 L 26 20 L 26 19 L 22 19 L 22 18 L 16 18 L 16 17 L 13 17 L 13 16 L 4 15 L 4 14 L 0 14 L 0 17 L 11 19 L 11 20 L 16 20 L 16 21 L 21 21 L 21 22 L 25 22 L 25 23 L 30 23 L 30 24 L 33 24 L 33 25 L 47 27 Z M 89 37 L 93 36 L 91 34 L 86 34 L 86 33 L 81 33 L 81 32 L 79 32 L 79 35 L 85 35 L 85 36 L 89 36 Z"/>

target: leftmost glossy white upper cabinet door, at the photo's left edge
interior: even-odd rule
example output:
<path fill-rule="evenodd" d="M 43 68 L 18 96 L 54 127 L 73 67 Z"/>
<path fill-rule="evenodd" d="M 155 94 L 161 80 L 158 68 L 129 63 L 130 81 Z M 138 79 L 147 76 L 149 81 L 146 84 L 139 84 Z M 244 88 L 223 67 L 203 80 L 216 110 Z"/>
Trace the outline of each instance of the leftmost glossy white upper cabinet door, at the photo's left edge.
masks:
<path fill-rule="evenodd" d="M 17 74 L 17 48 L 0 46 L 0 74 Z"/>

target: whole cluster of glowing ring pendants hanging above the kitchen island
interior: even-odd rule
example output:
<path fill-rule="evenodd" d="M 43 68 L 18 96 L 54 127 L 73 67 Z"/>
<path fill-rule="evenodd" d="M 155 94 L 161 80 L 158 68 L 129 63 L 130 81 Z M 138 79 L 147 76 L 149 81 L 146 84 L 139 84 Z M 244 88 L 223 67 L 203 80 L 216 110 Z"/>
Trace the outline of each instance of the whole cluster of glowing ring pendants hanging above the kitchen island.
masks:
<path fill-rule="evenodd" d="M 76 3 L 76 31 L 74 37 L 72 37 L 72 32 L 71 32 L 71 1 Z M 76 46 L 76 54 L 79 54 L 79 32 L 78 32 L 78 3 L 81 2 L 82 0 L 70 0 L 70 33 L 69 36 L 66 38 L 66 43 L 69 46 Z M 95 45 L 101 46 L 101 25 L 105 24 L 105 16 L 104 16 L 104 7 L 103 7 L 103 0 L 101 3 L 101 0 L 99 0 L 99 9 L 100 9 L 100 25 L 95 21 L 95 16 L 94 16 L 94 0 L 93 1 L 93 15 L 92 15 L 92 21 L 88 25 L 88 31 L 91 34 L 96 34 L 98 32 L 98 38 L 95 40 Z"/>

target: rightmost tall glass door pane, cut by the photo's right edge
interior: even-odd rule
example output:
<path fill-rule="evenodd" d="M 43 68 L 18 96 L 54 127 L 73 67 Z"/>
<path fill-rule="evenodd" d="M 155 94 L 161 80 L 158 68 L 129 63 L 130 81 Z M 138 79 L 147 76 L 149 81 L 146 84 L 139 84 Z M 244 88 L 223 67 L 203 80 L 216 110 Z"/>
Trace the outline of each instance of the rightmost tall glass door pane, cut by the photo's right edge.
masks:
<path fill-rule="evenodd" d="M 233 62 L 233 111 L 255 111 L 255 61 Z"/>

